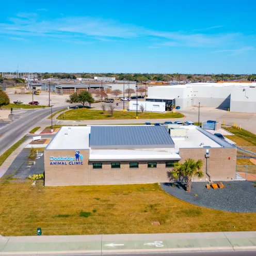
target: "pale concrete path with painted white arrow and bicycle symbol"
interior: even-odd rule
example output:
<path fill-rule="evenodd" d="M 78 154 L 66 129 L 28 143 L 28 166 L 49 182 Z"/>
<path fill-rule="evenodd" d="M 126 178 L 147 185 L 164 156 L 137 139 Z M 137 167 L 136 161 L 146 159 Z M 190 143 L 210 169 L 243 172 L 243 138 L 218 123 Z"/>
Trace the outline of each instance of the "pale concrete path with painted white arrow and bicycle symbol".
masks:
<path fill-rule="evenodd" d="M 213 250 L 256 251 L 256 232 L 0 237 L 0 255 Z"/>

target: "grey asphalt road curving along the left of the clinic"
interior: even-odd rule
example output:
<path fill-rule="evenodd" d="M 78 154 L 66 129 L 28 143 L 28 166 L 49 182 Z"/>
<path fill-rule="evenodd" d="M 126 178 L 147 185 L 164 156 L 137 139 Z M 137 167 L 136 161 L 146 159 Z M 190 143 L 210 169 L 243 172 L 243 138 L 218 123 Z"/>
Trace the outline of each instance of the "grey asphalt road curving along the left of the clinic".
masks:
<path fill-rule="evenodd" d="M 53 107 L 53 111 L 63 108 L 65 107 Z M 0 155 L 33 129 L 39 121 L 49 116 L 50 111 L 50 108 L 30 110 L 19 119 L 0 126 Z"/>

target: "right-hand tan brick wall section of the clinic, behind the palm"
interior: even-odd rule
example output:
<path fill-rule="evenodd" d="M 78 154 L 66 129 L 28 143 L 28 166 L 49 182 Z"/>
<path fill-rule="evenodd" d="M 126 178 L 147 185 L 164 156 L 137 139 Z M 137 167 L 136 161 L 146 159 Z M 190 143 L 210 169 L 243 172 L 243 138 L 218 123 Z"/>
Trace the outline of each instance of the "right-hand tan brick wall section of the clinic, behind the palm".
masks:
<path fill-rule="evenodd" d="M 211 148 L 210 157 L 208 158 L 208 173 L 211 175 L 212 181 L 231 181 L 235 179 L 236 169 L 236 149 L 235 148 Z M 204 177 L 201 181 L 209 181 L 206 175 L 206 158 L 205 148 L 202 149 L 180 149 L 182 162 L 187 158 L 203 161 L 202 171 Z M 229 160 L 230 157 L 230 160 Z M 197 177 L 193 181 L 200 181 Z"/>

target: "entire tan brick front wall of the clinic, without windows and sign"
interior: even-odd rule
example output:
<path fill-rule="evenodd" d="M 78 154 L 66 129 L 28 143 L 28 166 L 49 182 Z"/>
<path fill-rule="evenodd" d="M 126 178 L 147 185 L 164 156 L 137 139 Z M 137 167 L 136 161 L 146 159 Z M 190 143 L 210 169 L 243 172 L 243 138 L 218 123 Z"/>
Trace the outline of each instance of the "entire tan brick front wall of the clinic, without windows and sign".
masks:
<path fill-rule="evenodd" d="M 171 169 L 165 168 L 166 161 L 158 161 L 157 168 L 148 168 L 148 162 L 150 161 L 134 161 L 139 162 L 138 169 L 130 169 L 129 163 L 133 161 L 121 161 L 120 169 L 111 169 L 111 163 L 114 161 L 101 162 L 102 169 L 93 169 L 92 162 L 88 162 L 89 150 L 80 150 L 80 153 L 83 155 L 83 165 L 50 165 L 50 156 L 70 155 L 74 157 L 75 150 L 45 150 L 45 186 L 169 182 L 167 172 Z M 205 149 L 180 149 L 180 156 L 182 157 L 181 161 L 187 158 L 202 159 L 202 171 L 205 173 Z M 230 160 L 228 157 L 231 157 Z M 212 181 L 235 179 L 235 168 L 235 148 L 210 149 L 209 173 L 211 174 Z M 201 181 L 205 181 L 206 178 L 209 180 L 209 177 L 204 174 Z M 197 177 L 193 180 L 200 181 Z"/>

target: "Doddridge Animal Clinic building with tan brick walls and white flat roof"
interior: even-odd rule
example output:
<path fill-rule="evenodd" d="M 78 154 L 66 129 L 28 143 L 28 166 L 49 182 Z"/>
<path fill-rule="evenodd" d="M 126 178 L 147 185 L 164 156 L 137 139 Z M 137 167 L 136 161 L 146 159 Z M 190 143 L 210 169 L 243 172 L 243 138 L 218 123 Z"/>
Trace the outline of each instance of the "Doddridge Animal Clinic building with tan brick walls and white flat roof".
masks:
<path fill-rule="evenodd" d="M 197 126 L 62 126 L 44 150 L 45 186 L 170 182 L 187 158 L 203 161 L 194 181 L 235 180 L 236 149 Z"/>

